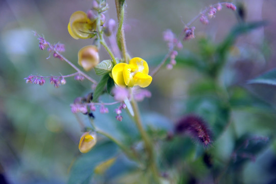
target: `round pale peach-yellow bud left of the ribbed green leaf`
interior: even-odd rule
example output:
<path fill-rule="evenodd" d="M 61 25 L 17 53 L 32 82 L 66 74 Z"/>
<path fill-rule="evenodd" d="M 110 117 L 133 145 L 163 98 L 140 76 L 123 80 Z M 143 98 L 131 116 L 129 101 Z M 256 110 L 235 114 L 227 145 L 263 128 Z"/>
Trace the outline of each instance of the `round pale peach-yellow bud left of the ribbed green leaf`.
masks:
<path fill-rule="evenodd" d="M 78 64 L 85 71 L 89 71 L 99 63 L 98 49 L 94 45 L 88 45 L 80 49 L 78 53 Z"/>

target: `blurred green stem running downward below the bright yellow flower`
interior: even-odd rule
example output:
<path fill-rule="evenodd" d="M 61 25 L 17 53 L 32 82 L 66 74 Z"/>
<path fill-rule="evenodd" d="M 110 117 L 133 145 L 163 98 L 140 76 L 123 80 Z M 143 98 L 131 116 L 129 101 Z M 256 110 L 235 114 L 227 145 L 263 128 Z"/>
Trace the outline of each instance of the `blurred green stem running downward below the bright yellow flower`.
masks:
<path fill-rule="evenodd" d="M 137 102 L 133 99 L 133 96 L 131 97 L 131 102 L 130 103 L 131 103 L 131 106 L 132 106 L 133 111 L 134 111 L 134 117 L 133 117 L 134 122 L 135 122 L 135 124 L 136 124 L 136 126 L 137 126 L 137 128 L 138 128 L 138 130 L 141 134 L 141 137 L 142 137 L 142 139 L 144 141 L 144 144 L 145 144 L 146 152 L 148 154 L 148 168 L 152 172 L 153 179 L 154 179 L 155 183 L 159 183 L 158 171 L 157 171 L 157 167 L 156 167 L 155 159 L 154 159 L 153 145 L 151 143 L 151 140 L 150 140 L 147 132 L 143 128 L 139 107 L 137 105 Z"/>

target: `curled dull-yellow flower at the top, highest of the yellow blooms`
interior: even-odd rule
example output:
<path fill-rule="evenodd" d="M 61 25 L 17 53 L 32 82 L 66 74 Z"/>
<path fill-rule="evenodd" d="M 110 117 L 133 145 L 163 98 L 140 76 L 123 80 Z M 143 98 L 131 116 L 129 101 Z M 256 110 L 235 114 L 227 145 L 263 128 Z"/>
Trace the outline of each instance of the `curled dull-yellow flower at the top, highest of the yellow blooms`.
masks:
<path fill-rule="evenodd" d="M 68 32 L 75 39 L 86 39 L 95 36 L 96 21 L 91 21 L 85 12 L 74 12 L 69 20 Z"/>

